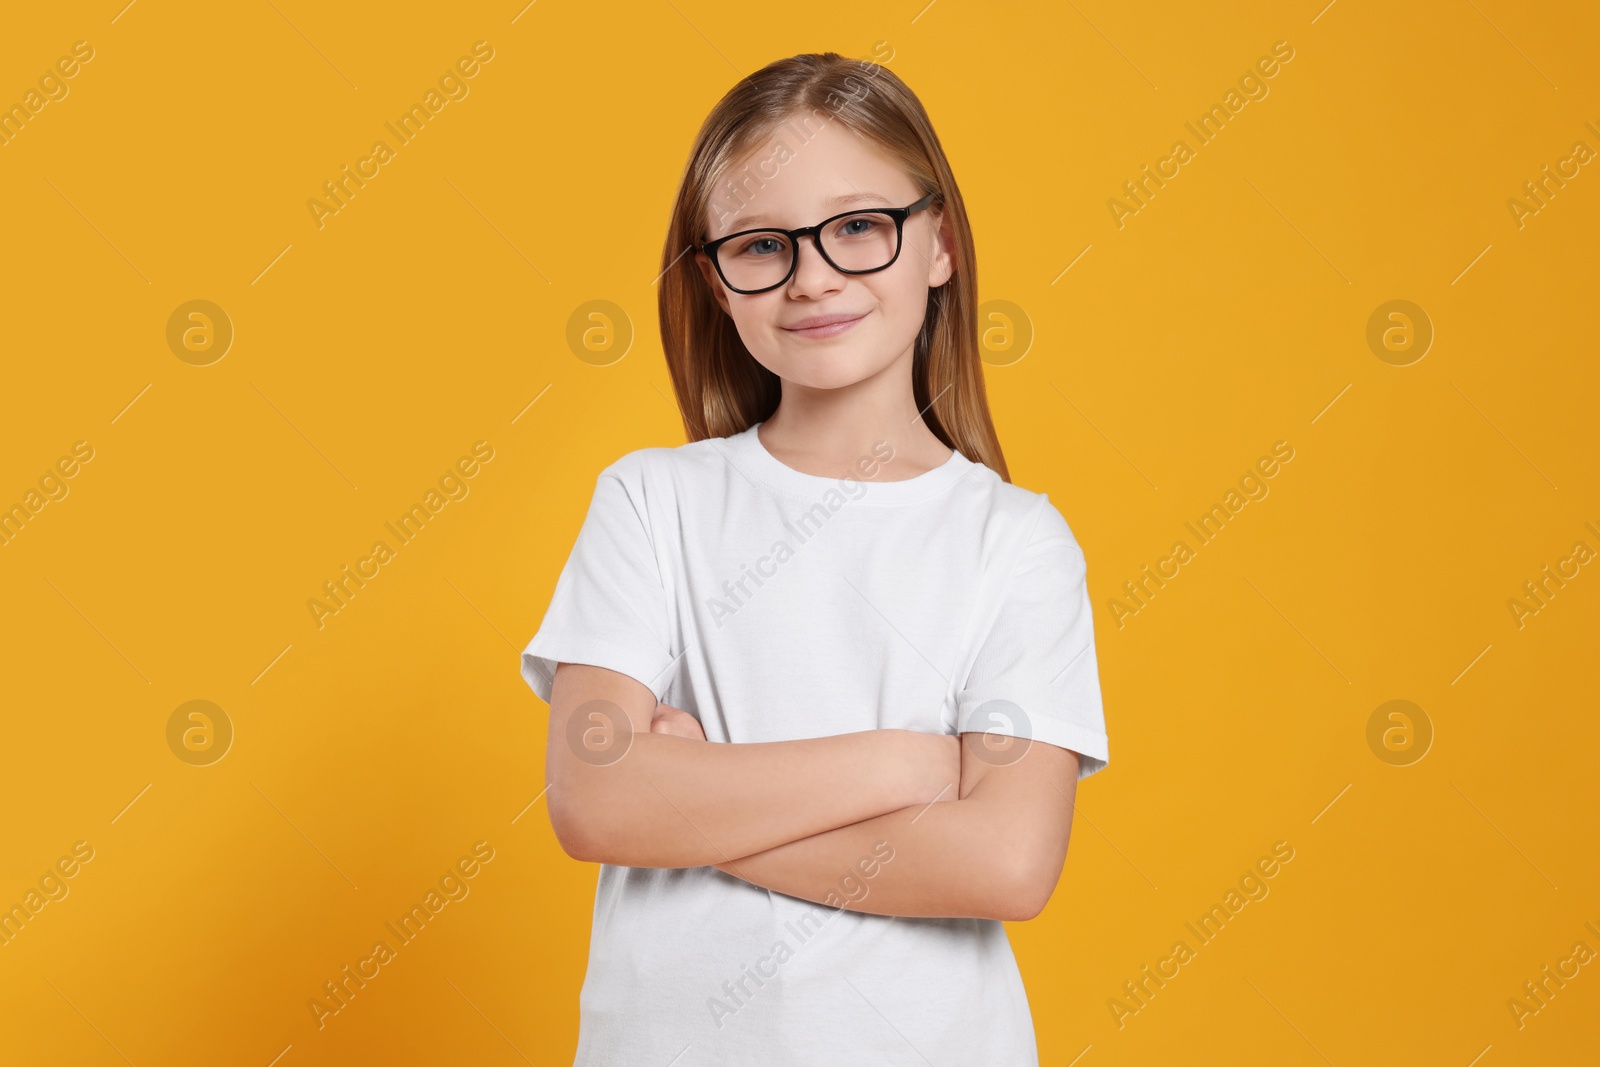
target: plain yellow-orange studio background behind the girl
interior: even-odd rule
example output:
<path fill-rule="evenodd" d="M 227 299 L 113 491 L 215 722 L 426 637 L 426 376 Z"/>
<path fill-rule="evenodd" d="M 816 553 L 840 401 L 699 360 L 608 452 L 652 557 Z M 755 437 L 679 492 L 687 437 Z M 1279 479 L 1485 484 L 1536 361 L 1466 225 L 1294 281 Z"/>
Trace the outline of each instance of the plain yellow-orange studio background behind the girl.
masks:
<path fill-rule="evenodd" d="M 1600 549 L 1600 174 L 1520 226 L 1507 202 L 1600 150 L 1600 16 L 520 6 L 6 18 L 0 104 L 74 42 L 93 59 L 0 146 L 0 504 L 93 459 L 0 545 L 0 902 L 93 859 L 0 947 L 0 1059 L 570 1062 L 597 869 L 533 803 L 517 653 L 595 474 L 683 442 L 653 278 L 693 133 L 814 50 L 885 58 L 933 115 L 981 298 L 1013 307 L 987 368 L 1013 478 L 1090 563 L 1112 761 L 1050 909 L 1010 928 L 1043 1062 L 1592 1057 L 1600 965 L 1522 1025 L 1507 1001 L 1600 952 L 1600 574 L 1522 625 L 1509 601 Z M 469 94 L 318 227 L 307 200 L 478 40 Z M 1184 123 L 1280 40 L 1269 94 L 1198 147 Z M 1118 227 L 1179 138 L 1195 157 Z M 197 299 L 234 331 L 208 365 L 168 342 Z M 597 299 L 621 358 L 568 342 Z M 1394 299 L 1435 333 L 1405 366 L 1366 341 Z M 318 627 L 322 584 L 475 442 L 469 493 Z M 1270 493 L 1118 625 L 1123 582 L 1277 442 Z M 234 731 L 205 766 L 168 741 L 189 701 Z M 1368 741 L 1389 701 L 1421 709 L 1421 760 Z M 470 894 L 318 1030 L 323 982 L 477 841 Z M 1118 1025 L 1123 982 L 1275 841 L 1270 894 Z"/>

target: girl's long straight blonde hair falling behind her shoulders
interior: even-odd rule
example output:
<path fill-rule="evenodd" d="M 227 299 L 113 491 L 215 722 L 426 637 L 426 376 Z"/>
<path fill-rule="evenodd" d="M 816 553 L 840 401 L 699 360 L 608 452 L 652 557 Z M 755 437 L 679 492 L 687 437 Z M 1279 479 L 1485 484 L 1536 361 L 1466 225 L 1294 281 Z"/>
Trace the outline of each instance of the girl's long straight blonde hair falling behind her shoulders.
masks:
<path fill-rule="evenodd" d="M 730 437 L 778 410 L 782 384 L 762 366 L 733 320 L 717 304 L 691 250 L 707 240 L 706 219 L 728 165 L 763 144 L 781 126 L 838 120 L 898 160 L 934 211 L 949 221 L 954 274 L 928 294 L 928 315 L 912 360 L 912 390 L 928 429 L 973 462 L 1010 482 L 1000 438 L 989 418 L 978 349 L 978 258 L 955 174 L 922 101 L 893 70 L 837 53 L 771 62 L 734 85 L 701 123 L 672 206 L 661 251 L 661 344 L 688 440 Z M 798 146 L 789 146 L 790 149 Z M 744 184 L 760 186 L 746 171 Z M 723 190 L 738 197 L 733 179 Z"/>

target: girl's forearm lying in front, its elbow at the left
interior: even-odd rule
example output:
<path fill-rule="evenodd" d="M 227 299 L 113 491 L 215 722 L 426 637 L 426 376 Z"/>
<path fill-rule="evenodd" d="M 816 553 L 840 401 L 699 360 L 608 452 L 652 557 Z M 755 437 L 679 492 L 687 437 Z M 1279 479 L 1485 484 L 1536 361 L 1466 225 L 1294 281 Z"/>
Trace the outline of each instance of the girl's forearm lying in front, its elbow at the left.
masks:
<path fill-rule="evenodd" d="M 550 752 L 550 822 L 576 859 L 701 867 L 954 797 L 958 763 L 954 737 L 907 729 L 750 744 L 635 733 L 606 765 Z"/>

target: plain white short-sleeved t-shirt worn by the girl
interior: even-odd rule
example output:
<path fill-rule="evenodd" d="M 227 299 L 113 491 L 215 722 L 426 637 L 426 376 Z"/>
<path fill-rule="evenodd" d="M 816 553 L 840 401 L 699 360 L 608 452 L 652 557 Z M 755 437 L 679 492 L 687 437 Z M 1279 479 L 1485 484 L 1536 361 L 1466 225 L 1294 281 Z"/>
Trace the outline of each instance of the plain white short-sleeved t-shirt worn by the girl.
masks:
<path fill-rule="evenodd" d="M 712 744 L 987 729 L 1104 768 L 1083 553 L 1050 499 L 958 451 L 899 482 L 842 475 L 786 466 L 757 427 L 622 456 L 523 678 L 549 702 L 558 662 L 619 670 Z M 574 1067 L 850 1062 L 1035 1067 L 1003 923 L 600 865 Z"/>

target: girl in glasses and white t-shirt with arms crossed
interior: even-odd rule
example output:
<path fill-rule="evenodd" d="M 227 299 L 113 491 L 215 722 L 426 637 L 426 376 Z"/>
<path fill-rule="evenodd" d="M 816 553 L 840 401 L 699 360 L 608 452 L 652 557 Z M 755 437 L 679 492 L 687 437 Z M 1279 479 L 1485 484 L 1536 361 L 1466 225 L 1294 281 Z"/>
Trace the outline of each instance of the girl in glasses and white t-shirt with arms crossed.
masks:
<path fill-rule="evenodd" d="M 1050 899 L 1106 726 L 922 104 L 834 53 L 742 80 L 662 267 L 690 443 L 600 472 L 522 656 L 550 822 L 602 864 L 576 1064 L 1032 1067 L 1002 923 Z"/>

